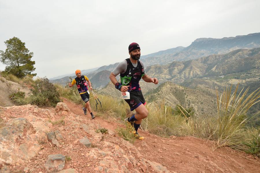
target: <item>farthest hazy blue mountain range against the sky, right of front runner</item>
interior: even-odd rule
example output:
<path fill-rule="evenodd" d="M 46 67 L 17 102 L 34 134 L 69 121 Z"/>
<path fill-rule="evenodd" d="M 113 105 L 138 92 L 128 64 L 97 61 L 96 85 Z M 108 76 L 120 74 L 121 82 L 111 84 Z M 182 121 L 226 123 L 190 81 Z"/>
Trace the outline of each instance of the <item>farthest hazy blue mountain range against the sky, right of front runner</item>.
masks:
<path fill-rule="evenodd" d="M 225 54 L 237 49 L 252 49 L 256 47 L 260 47 L 260 33 L 224 37 L 222 39 L 199 38 L 179 52 L 157 56 L 150 54 L 151 56 L 146 55 L 145 59 L 141 58 L 141 60 L 146 65 L 168 64 L 172 61 L 187 61 L 212 54 Z"/>

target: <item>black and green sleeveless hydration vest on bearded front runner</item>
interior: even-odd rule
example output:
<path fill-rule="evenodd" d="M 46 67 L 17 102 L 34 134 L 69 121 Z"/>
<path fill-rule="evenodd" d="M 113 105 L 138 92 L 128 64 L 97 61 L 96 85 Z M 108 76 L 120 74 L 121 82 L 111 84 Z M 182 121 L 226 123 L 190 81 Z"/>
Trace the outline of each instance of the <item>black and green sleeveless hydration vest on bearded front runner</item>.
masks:
<path fill-rule="evenodd" d="M 137 60 L 137 66 L 134 67 L 129 58 L 127 61 L 127 70 L 125 73 L 120 73 L 120 79 L 122 85 L 129 85 L 128 91 L 140 91 L 139 81 L 144 76 L 144 68 L 142 67 L 139 60 Z"/>

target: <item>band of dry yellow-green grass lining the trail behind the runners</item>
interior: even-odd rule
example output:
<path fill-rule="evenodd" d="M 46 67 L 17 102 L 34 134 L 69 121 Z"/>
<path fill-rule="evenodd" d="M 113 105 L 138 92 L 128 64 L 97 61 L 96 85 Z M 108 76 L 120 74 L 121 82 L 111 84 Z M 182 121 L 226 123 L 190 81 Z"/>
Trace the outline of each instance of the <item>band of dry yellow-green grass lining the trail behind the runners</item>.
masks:
<path fill-rule="evenodd" d="M 248 90 L 239 91 L 237 85 L 233 93 L 231 86 L 226 88 L 221 95 L 217 94 L 218 110 L 217 115 L 214 116 L 195 116 L 194 110 L 185 109 L 181 105 L 172 108 L 163 100 L 148 103 L 146 108 L 149 115 L 142 121 L 141 127 L 145 131 L 162 137 L 195 136 L 213 140 L 214 149 L 228 146 L 260 156 L 260 128 L 248 126 L 250 118 L 246 116 L 248 109 L 259 102 L 260 89 L 251 94 Z M 78 100 L 73 97 L 73 94 L 66 97 L 74 102 Z M 90 98 L 91 107 L 95 110 L 96 101 L 91 93 Z M 134 113 L 129 111 L 128 104 L 123 100 L 117 100 L 108 95 L 99 95 L 99 100 L 102 102 L 102 108 L 98 105 L 97 113 L 101 117 L 112 117 L 123 122 L 125 117 L 130 117 Z M 118 128 L 118 134 L 131 141 L 133 136 L 128 128 Z"/>

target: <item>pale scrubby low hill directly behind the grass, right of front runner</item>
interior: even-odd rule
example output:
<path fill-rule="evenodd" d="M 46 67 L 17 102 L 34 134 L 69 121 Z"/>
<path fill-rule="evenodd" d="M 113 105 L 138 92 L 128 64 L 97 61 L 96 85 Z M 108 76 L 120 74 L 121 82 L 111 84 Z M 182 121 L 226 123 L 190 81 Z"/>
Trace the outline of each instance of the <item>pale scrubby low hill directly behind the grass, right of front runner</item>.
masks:
<path fill-rule="evenodd" d="M 190 89 L 166 82 L 147 92 L 145 98 L 148 102 L 164 100 L 171 107 L 193 107 L 196 115 L 216 115 L 217 111 L 216 91 L 210 88 Z"/>

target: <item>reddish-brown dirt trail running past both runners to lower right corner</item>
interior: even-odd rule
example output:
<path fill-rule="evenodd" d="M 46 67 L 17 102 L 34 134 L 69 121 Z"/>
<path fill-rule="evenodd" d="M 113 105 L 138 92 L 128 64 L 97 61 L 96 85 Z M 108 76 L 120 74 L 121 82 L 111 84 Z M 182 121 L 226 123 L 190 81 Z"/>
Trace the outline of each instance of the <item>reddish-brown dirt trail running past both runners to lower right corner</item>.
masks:
<path fill-rule="evenodd" d="M 69 109 L 77 114 L 83 115 L 80 105 L 76 105 L 63 99 Z M 95 114 L 95 113 L 94 113 Z M 88 113 L 87 117 L 91 117 Z M 112 120 L 96 117 L 92 123 L 115 130 L 120 123 Z M 166 166 L 171 172 L 259 172 L 260 161 L 251 155 L 235 151 L 229 147 L 222 147 L 216 151 L 212 150 L 212 141 L 202 140 L 192 136 L 161 138 L 139 130 L 145 140 L 136 140 L 134 146 L 140 151 L 144 158 Z"/>

